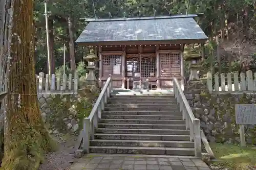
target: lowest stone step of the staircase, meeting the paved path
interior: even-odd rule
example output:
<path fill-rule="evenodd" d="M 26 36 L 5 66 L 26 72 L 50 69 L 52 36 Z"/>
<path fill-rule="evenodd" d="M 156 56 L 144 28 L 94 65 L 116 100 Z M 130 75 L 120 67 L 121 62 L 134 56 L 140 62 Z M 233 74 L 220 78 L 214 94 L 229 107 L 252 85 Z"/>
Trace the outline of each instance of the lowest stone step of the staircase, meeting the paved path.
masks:
<path fill-rule="evenodd" d="M 90 146 L 90 153 L 108 154 L 147 154 L 147 155 L 181 155 L 194 156 L 192 148 L 165 148 L 165 147 L 99 147 Z"/>

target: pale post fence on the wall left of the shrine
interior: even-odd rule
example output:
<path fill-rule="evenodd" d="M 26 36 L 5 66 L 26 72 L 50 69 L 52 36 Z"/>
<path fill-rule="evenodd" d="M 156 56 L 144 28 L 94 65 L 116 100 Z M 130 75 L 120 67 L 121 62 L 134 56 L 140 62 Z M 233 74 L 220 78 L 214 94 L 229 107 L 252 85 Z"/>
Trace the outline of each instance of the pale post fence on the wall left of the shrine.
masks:
<path fill-rule="evenodd" d="M 63 75 L 51 75 L 51 80 L 49 75 L 45 75 L 44 72 L 40 72 L 39 76 L 36 75 L 36 85 L 37 93 L 46 94 L 73 94 L 78 91 L 78 72 L 75 72 L 73 77 L 69 74 Z"/>

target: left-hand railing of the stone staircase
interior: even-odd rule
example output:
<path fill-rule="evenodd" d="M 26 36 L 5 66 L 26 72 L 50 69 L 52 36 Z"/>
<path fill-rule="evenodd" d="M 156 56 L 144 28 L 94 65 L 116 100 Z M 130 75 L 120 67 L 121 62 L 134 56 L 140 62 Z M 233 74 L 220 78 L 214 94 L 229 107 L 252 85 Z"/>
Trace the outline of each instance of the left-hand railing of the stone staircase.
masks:
<path fill-rule="evenodd" d="M 90 139 L 94 139 L 94 129 L 98 127 L 99 118 L 101 118 L 101 112 L 104 110 L 104 105 L 108 102 L 110 98 L 110 93 L 112 91 L 112 78 L 110 77 L 106 80 L 96 103 L 90 115 L 83 119 L 83 143 L 82 148 L 84 153 L 89 153 Z"/>

